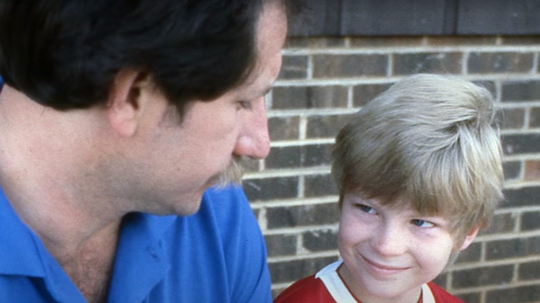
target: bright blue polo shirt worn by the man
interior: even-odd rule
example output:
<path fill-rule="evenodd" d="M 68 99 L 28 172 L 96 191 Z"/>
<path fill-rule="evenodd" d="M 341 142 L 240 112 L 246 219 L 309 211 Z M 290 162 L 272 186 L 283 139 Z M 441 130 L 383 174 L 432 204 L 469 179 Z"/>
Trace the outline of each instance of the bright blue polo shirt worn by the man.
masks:
<path fill-rule="evenodd" d="M 0 192 L 0 302 L 85 302 Z M 132 213 L 108 302 L 271 302 L 266 247 L 240 187 L 208 190 L 189 217 Z"/>

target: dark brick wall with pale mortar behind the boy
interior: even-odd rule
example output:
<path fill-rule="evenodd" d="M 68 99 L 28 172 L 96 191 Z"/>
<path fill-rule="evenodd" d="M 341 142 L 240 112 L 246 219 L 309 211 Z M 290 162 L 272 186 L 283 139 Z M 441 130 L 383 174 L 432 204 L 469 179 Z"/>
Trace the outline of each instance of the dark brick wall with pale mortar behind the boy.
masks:
<path fill-rule="evenodd" d="M 492 227 L 437 282 L 469 303 L 540 302 L 540 37 L 296 38 L 269 94 L 273 140 L 244 178 L 274 293 L 339 257 L 330 151 L 340 127 L 411 73 L 485 84 L 502 112 L 505 194 Z"/>

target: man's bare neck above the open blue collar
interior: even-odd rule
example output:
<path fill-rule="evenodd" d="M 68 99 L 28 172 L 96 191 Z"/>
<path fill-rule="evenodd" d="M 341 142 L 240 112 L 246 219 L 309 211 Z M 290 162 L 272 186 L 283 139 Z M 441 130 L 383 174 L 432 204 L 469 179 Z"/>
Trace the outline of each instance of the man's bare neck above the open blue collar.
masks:
<path fill-rule="evenodd" d="M 80 118 L 77 112 L 61 115 L 3 87 L 0 184 L 15 212 L 84 297 L 100 302 L 107 297 L 123 212 L 102 194 L 98 177 L 89 177 L 98 159 L 80 146 L 100 146 L 92 141 L 97 135 L 85 133 L 84 122 L 70 129 L 76 125 L 70 122 Z"/>

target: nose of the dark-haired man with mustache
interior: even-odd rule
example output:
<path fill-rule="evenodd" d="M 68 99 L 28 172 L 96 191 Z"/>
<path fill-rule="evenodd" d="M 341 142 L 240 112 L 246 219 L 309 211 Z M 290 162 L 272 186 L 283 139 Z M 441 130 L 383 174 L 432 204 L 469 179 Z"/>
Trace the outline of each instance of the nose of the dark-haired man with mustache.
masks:
<path fill-rule="evenodd" d="M 234 154 L 254 159 L 266 158 L 270 153 L 270 136 L 264 97 L 251 102 L 251 109 L 246 109 L 242 119 L 242 129 L 237 138 Z"/>

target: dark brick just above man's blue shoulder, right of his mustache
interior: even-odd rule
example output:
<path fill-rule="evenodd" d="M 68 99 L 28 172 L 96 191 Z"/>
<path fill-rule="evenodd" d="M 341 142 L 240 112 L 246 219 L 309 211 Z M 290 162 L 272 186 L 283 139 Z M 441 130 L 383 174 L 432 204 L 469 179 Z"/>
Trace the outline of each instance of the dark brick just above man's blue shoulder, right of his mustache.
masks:
<path fill-rule="evenodd" d="M 242 182 L 249 201 L 269 201 L 298 197 L 298 177 L 249 179 Z"/>

